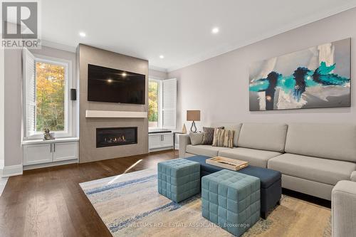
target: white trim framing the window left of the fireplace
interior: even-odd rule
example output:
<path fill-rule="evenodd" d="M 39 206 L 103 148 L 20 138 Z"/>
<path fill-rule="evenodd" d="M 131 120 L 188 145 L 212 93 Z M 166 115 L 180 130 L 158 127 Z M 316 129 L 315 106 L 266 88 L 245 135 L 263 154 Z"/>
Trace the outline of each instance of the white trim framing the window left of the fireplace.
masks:
<path fill-rule="evenodd" d="M 63 65 L 65 68 L 65 78 L 66 78 L 66 83 L 65 83 L 65 93 L 64 93 L 64 131 L 53 131 L 56 138 L 58 137 L 72 137 L 73 135 L 73 125 L 72 125 L 72 102 L 69 98 L 70 96 L 70 88 L 72 88 L 72 83 L 73 83 L 73 78 L 72 78 L 72 61 L 71 60 L 66 60 L 66 59 L 61 59 L 61 58 L 53 58 L 49 56 L 43 56 L 39 54 L 33 53 L 33 57 L 35 60 L 35 77 L 36 77 L 36 63 L 37 62 L 43 62 L 43 63 L 52 63 L 55 65 Z M 36 83 L 36 82 L 35 82 Z M 36 87 L 36 85 L 35 85 Z M 23 93 L 26 93 L 26 88 Z M 26 110 L 26 107 L 24 107 Z M 36 111 L 35 111 L 36 112 Z M 23 121 L 26 121 L 26 112 L 23 112 Z M 26 126 L 26 123 L 25 123 Z M 24 133 L 24 140 L 30 140 L 30 139 L 41 139 L 43 138 L 43 131 L 38 131 L 34 132 L 33 135 L 26 137 L 26 132 Z"/>

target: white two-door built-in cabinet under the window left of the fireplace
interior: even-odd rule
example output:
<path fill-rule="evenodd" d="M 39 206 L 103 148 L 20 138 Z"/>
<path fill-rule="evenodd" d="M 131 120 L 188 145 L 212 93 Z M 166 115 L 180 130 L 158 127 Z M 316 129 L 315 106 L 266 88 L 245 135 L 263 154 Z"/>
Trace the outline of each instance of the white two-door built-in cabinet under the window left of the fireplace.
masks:
<path fill-rule="evenodd" d="M 65 161 L 78 162 L 78 141 L 26 142 L 23 144 L 23 166 Z"/>

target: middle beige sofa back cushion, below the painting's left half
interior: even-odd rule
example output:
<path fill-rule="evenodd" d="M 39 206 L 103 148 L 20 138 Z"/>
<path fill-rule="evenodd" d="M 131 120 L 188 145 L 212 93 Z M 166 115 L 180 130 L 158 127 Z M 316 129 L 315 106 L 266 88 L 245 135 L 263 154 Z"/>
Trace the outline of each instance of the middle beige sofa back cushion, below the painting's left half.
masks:
<path fill-rule="evenodd" d="M 284 152 L 288 125 L 278 123 L 244 123 L 238 147 Z"/>

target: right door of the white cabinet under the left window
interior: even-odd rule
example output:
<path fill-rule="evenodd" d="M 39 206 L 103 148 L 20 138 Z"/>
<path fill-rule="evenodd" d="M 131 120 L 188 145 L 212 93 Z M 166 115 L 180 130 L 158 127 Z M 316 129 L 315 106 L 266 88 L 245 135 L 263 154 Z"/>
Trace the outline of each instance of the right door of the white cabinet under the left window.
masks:
<path fill-rule="evenodd" d="M 53 162 L 78 159 L 78 142 L 57 142 L 53 144 Z"/>

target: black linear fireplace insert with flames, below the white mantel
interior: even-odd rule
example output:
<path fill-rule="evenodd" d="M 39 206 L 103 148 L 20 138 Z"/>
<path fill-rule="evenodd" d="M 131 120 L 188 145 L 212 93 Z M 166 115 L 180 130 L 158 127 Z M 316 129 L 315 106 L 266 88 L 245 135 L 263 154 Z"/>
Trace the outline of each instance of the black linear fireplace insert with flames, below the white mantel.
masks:
<path fill-rule="evenodd" d="M 137 144 L 137 127 L 105 127 L 96 129 L 96 147 Z"/>

